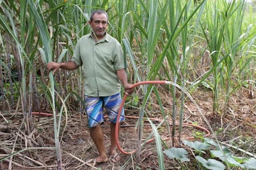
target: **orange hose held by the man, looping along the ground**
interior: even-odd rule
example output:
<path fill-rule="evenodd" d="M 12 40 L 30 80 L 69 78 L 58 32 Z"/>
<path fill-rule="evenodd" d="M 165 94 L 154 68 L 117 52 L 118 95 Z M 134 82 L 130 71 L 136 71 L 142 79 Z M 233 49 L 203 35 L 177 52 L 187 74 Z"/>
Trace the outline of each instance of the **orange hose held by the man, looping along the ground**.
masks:
<path fill-rule="evenodd" d="M 137 86 L 142 85 L 142 84 L 171 84 L 171 82 L 170 81 L 141 81 L 139 83 L 133 84 L 132 88 L 137 87 Z M 115 142 L 116 142 L 117 148 L 119 149 L 119 151 L 121 153 L 124 153 L 125 155 L 130 155 L 130 154 L 135 153 L 136 150 L 133 150 L 132 152 L 124 151 L 121 148 L 121 146 L 119 144 L 119 139 L 118 139 L 118 136 L 119 136 L 119 132 L 118 132 L 119 131 L 119 119 L 120 119 L 120 116 L 121 116 L 122 107 L 124 106 L 124 102 L 126 101 L 126 97 L 127 97 L 127 94 L 124 94 L 124 97 L 122 98 L 122 102 L 121 102 L 121 105 L 120 105 L 120 108 L 119 108 L 119 111 L 118 111 L 118 115 L 117 115 L 116 129 L 115 129 Z M 126 118 L 128 118 L 128 116 L 126 116 Z M 132 118 L 134 118 L 134 117 L 132 116 Z M 160 121 L 160 119 L 156 119 L 156 118 L 150 118 L 150 119 Z M 176 123 L 176 124 L 179 124 L 179 123 Z M 203 131 L 206 131 L 207 135 L 205 135 L 204 137 L 207 137 L 207 136 L 210 135 L 210 132 L 207 129 L 205 129 L 204 127 L 197 126 L 197 125 L 194 125 L 194 124 L 187 124 L 187 123 L 182 123 L 182 124 L 185 125 L 185 126 L 197 127 L 198 129 L 202 129 Z M 188 137 L 187 139 L 194 139 L 194 137 Z M 148 140 L 148 142 L 151 142 L 152 140 L 153 139 Z"/>

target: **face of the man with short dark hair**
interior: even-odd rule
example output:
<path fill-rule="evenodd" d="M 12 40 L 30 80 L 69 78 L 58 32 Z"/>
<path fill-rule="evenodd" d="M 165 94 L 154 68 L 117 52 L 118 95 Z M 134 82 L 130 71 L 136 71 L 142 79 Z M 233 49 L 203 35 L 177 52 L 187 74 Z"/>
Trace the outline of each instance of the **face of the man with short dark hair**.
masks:
<path fill-rule="evenodd" d="M 105 36 L 106 28 L 108 27 L 108 18 L 105 14 L 95 13 L 93 15 L 93 20 L 90 20 L 89 23 L 97 38 L 100 39 Z"/>

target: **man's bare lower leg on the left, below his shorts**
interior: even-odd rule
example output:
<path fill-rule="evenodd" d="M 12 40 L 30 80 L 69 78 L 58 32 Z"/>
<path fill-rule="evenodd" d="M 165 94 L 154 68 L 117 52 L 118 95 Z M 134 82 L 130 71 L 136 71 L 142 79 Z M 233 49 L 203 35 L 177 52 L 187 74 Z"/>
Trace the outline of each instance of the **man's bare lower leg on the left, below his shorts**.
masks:
<path fill-rule="evenodd" d="M 96 163 L 103 163 L 108 161 L 108 156 L 106 155 L 106 149 L 103 142 L 104 134 L 100 124 L 90 128 L 90 135 L 98 149 L 98 152 L 100 153 L 100 156 L 95 158 Z"/>

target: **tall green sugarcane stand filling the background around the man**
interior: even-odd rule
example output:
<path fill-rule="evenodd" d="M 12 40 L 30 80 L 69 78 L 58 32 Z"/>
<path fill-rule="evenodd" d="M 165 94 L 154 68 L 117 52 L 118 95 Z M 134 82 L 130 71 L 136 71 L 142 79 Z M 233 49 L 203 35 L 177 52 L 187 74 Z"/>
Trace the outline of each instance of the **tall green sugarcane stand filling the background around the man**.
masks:
<path fill-rule="evenodd" d="M 138 128 L 142 132 L 143 118 L 155 115 L 155 110 L 150 108 L 155 96 L 174 145 L 174 136 L 182 137 L 188 92 L 192 94 L 199 86 L 211 89 L 213 111 L 226 113 L 231 95 L 247 85 L 252 97 L 255 91 L 256 27 L 254 20 L 247 19 L 248 23 L 244 23 L 245 2 L 194 2 L 1 1 L 0 110 L 21 108 L 30 134 L 32 111 L 41 111 L 42 107 L 51 109 L 61 168 L 61 116 L 57 115 L 67 117 L 68 110 L 83 113 L 82 68 L 70 72 L 60 70 L 53 76 L 51 72 L 46 73 L 45 64 L 70 60 L 77 40 L 90 32 L 87 23 L 90 12 L 105 9 L 109 15 L 108 33 L 124 46 L 129 81 L 160 79 L 182 87 L 181 91 L 177 86 L 145 85 L 126 104 L 126 107 L 140 108 Z M 173 99 L 169 112 L 164 111 L 166 101 L 161 99 L 161 90 Z M 179 92 L 181 97 L 177 97 Z M 140 105 L 132 101 L 141 97 Z M 172 126 L 166 116 L 171 117 Z M 159 138 L 156 127 L 152 127 Z M 140 148 L 142 134 L 138 139 Z M 158 140 L 158 152 L 160 147 Z M 163 155 L 158 156 L 161 164 Z M 140 160 L 140 150 L 137 159 Z"/>

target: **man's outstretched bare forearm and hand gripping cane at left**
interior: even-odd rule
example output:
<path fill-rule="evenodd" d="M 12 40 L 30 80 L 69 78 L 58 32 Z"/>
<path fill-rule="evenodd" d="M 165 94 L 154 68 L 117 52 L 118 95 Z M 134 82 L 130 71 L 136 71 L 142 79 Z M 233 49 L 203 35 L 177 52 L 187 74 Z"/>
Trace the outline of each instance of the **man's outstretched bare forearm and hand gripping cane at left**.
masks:
<path fill-rule="evenodd" d="M 53 70 L 53 74 L 55 73 L 55 71 L 59 70 L 59 68 L 62 68 L 64 70 L 75 70 L 77 68 L 79 68 L 77 65 L 75 65 L 74 61 L 69 61 L 66 63 L 56 63 L 56 62 L 49 62 L 46 67 L 48 68 L 48 70 Z"/>

